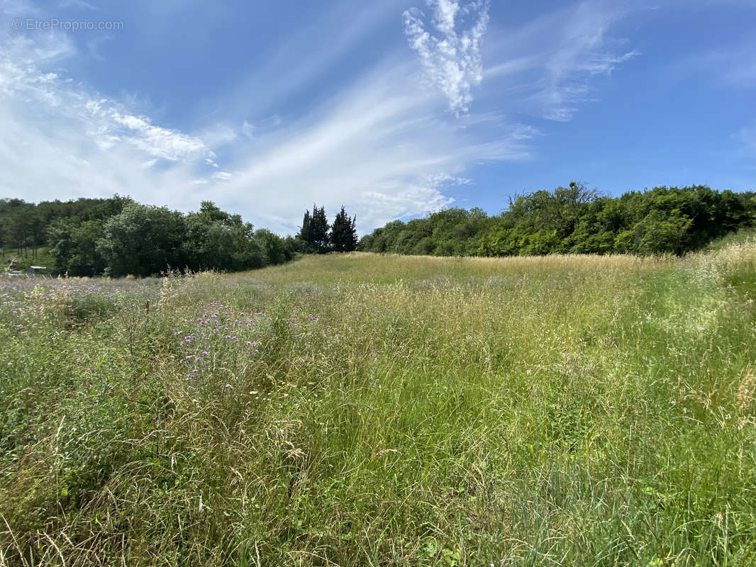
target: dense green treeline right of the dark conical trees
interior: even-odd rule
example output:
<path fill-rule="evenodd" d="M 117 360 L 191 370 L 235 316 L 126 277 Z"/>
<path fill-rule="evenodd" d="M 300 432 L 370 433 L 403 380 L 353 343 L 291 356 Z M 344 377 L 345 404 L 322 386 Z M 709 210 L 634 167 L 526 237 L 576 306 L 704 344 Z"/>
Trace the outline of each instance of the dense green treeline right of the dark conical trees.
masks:
<path fill-rule="evenodd" d="M 754 215 L 752 191 L 696 185 L 607 197 L 572 182 L 510 198 L 500 215 L 445 209 L 406 223 L 389 222 L 364 236 L 357 249 L 434 256 L 679 255 L 750 225 Z"/>

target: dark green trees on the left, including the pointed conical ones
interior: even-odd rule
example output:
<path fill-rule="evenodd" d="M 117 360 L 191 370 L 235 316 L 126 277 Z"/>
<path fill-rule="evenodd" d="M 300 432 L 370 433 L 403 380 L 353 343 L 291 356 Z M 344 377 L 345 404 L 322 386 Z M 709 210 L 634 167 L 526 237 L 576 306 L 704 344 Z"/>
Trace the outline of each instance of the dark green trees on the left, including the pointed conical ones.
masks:
<path fill-rule="evenodd" d="M 343 207 L 333 227 L 323 207 L 313 207 L 313 215 L 305 213 L 308 218 L 314 222 L 302 233 L 282 238 L 266 228 L 255 229 L 211 201 L 185 215 L 118 195 L 37 204 L 2 199 L 0 249 L 3 256 L 29 264 L 44 248 L 53 274 L 113 277 L 147 276 L 169 268 L 249 270 L 287 262 L 298 252 L 355 249 L 355 219 Z"/>

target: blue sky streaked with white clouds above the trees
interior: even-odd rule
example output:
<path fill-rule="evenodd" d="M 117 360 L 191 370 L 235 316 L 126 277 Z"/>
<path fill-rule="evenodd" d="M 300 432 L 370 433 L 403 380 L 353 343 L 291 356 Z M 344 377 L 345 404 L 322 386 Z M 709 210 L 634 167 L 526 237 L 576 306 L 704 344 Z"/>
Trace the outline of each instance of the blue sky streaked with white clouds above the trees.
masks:
<path fill-rule="evenodd" d="M 365 234 L 570 181 L 754 190 L 754 95 L 754 0 L 0 0 L 0 197 Z"/>

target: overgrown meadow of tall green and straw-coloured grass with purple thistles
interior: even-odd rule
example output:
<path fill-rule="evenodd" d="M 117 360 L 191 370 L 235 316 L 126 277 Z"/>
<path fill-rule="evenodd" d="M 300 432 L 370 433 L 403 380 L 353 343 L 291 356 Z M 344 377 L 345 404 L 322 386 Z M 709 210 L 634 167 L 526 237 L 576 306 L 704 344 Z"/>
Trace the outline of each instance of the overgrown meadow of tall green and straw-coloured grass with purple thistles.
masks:
<path fill-rule="evenodd" d="M 756 565 L 756 240 L 0 282 L 0 565 Z"/>

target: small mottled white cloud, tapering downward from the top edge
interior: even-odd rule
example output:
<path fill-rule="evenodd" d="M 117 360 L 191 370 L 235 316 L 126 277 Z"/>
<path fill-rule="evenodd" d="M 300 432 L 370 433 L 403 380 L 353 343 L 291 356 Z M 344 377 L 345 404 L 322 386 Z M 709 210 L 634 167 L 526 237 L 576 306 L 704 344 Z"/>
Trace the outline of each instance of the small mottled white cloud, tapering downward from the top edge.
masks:
<path fill-rule="evenodd" d="M 460 6 L 454 0 L 428 0 L 428 5 L 435 32 L 427 29 L 423 12 L 411 8 L 404 12 L 404 33 L 432 84 L 448 98 L 450 110 L 466 113 L 472 88 L 483 79 L 481 45 L 488 25 L 488 2 Z"/>

